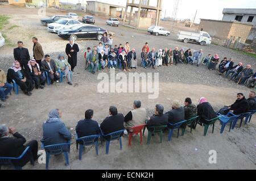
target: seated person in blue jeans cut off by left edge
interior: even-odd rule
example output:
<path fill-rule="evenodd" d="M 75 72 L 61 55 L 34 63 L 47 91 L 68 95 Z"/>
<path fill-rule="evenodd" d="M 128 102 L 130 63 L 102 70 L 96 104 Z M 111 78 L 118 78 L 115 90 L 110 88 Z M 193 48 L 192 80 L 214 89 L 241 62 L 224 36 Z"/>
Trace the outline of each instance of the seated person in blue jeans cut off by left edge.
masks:
<path fill-rule="evenodd" d="M 9 98 L 8 94 L 10 93 L 11 89 L 13 89 L 13 85 L 7 83 L 6 74 L 0 69 L 0 99 L 2 102 L 5 102 L 6 99 Z"/>

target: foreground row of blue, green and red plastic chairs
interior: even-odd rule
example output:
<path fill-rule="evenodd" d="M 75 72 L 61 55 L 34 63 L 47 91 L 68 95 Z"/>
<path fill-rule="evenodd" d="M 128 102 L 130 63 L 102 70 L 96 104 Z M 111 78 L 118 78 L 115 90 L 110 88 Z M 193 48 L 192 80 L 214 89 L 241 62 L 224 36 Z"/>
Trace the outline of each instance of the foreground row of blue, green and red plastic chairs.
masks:
<path fill-rule="evenodd" d="M 232 112 L 228 112 L 226 115 L 218 114 L 217 117 L 215 117 L 211 120 L 206 120 L 207 122 L 205 122 L 203 124 L 204 125 L 204 136 L 206 136 L 210 125 L 212 126 L 212 133 L 214 132 L 214 124 L 216 123 L 217 120 L 220 120 L 220 123 L 221 123 L 220 133 L 223 133 L 225 126 L 228 123 L 230 123 L 230 128 L 229 128 L 229 132 L 230 132 L 231 129 L 234 129 L 234 127 L 236 127 L 238 120 L 240 120 L 240 127 L 242 125 L 243 120 L 245 120 L 244 124 L 247 124 L 247 122 L 250 123 L 251 117 L 253 116 L 254 113 L 256 113 L 256 110 L 242 113 L 241 115 L 234 115 Z M 195 125 L 195 127 L 196 127 L 198 120 L 199 120 L 199 116 L 196 116 L 196 117 L 192 117 L 189 120 L 180 121 L 179 123 L 175 123 L 175 124 L 168 123 L 168 125 L 170 125 L 170 127 L 168 127 L 167 125 L 163 125 L 160 127 L 146 127 L 146 124 L 138 125 L 136 127 L 131 128 L 131 129 L 133 129 L 133 132 L 129 132 L 129 144 L 128 145 L 131 146 L 131 138 L 133 137 L 134 134 L 140 134 L 140 138 L 141 138 L 140 141 L 141 141 L 141 145 L 142 145 L 142 138 L 144 136 L 144 132 L 145 132 L 146 128 L 148 130 L 147 145 L 150 144 L 151 137 L 154 134 L 159 134 L 160 142 L 162 143 L 163 131 L 166 128 L 168 128 L 168 141 L 171 141 L 172 133 L 174 132 L 175 129 L 177 129 L 177 137 L 179 137 L 180 127 L 181 127 L 181 125 L 184 124 L 184 127 L 181 128 L 182 129 L 181 136 L 184 136 L 185 129 L 187 128 L 187 126 L 190 127 L 190 132 L 192 132 L 192 127 L 193 127 L 193 125 Z M 143 130 L 143 133 L 142 133 L 142 130 Z M 98 155 L 98 140 L 101 136 L 109 137 L 109 140 L 106 141 L 106 154 L 109 154 L 110 141 L 119 140 L 120 150 L 122 150 L 121 135 L 123 134 L 123 131 L 124 130 L 122 129 L 120 131 L 109 133 L 106 135 L 104 135 L 104 133 L 101 132 L 101 134 L 85 136 L 85 137 L 81 137 L 81 138 L 78 138 L 77 134 L 76 134 L 76 149 L 79 149 L 79 160 L 82 159 L 82 150 L 85 148 L 85 146 L 94 145 L 95 150 L 96 150 L 96 155 Z M 68 143 L 64 143 L 64 144 L 56 144 L 56 145 L 48 145 L 48 146 L 44 146 L 44 144 L 42 143 L 42 149 L 46 150 L 46 169 L 49 168 L 50 155 L 58 155 L 58 154 L 63 153 L 64 158 L 65 158 L 65 165 L 66 166 L 69 165 L 68 153 L 70 150 L 70 145 L 71 145 L 70 141 Z M 64 151 L 65 146 L 68 147 L 68 151 Z M 30 150 L 30 148 L 27 147 L 23 151 L 23 153 L 17 158 L 0 157 L 0 166 L 1 165 L 12 165 L 13 160 L 18 160 L 18 159 L 22 158 L 24 156 L 24 154 L 26 154 L 27 151 L 29 151 L 29 150 Z M 31 163 L 34 164 L 34 161 L 32 159 L 31 159 Z M 14 166 L 14 167 L 15 167 L 15 169 L 22 169 L 21 167 L 18 167 L 18 166 Z"/>

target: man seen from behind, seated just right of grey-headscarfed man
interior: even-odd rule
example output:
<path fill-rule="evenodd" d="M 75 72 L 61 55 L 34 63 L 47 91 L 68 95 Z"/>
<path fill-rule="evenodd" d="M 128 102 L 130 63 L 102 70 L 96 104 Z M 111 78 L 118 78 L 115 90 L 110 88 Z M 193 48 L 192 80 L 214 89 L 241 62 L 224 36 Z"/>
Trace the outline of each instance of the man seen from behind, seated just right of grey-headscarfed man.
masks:
<path fill-rule="evenodd" d="M 76 133 L 79 138 L 100 134 L 100 127 L 97 121 L 92 120 L 93 110 L 85 111 L 85 119 L 80 120 L 76 125 Z"/>

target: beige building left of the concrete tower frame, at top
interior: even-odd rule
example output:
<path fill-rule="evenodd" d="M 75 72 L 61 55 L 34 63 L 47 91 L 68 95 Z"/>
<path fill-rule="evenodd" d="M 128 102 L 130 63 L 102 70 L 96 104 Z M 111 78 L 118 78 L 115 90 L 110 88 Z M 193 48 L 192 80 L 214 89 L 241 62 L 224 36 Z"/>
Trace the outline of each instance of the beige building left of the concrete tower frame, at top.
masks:
<path fill-rule="evenodd" d="M 87 5 L 86 5 L 86 12 L 89 12 L 90 14 L 93 14 L 93 15 L 116 17 L 118 9 L 121 9 L 123 12 L 125 7 L 110 5 L 108 3 L 97 2 L 97 1 L 87 1 Z"/>

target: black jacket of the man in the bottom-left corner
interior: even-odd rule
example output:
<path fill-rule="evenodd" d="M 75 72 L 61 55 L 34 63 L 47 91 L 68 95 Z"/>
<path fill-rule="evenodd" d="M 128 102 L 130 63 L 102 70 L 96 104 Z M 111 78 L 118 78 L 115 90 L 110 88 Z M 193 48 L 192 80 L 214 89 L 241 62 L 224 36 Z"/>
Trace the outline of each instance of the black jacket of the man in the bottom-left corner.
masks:
<path fill-rule="evenodd" d="M 19 157 L 25 149 L 26 138 L 16 132 L 14 137 L 0 138 L 0 157 Z M 28 154 L 19 161 L 13 161 L 14 165 L 24 166 L 29 160 Z"/>

